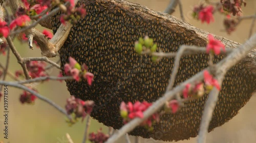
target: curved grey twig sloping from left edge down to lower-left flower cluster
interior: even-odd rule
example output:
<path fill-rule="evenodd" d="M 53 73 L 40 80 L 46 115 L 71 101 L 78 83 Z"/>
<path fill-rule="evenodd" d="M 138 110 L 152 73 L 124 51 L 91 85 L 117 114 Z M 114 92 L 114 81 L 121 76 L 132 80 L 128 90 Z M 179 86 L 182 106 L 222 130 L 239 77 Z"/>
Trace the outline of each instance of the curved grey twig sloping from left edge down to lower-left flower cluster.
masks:
<path fill-rule="evenodd" d="M 53 106 L 54 108 L 56 108 L 58 111 L 60 111 L 64 115 L 66 115 L 69 118 L 70 121 L 72 121 L 72 117 L 68 115 L 68 113 L 66 112 L 65 109 L 62 109 L 59 105 L 57 105 L 56 103 L 54 103 L 50 99 L 48 99 L 44 96 L 41 96 L 40 94 L 38 94 L 37 92 L 27 88 L 26 86 L 24 86 L 22 84 L 18 84 L 17 82 L 8 82 L 8 81 L 0 81 L 0 84 L 1 85 L 9 85 L 11 87 L 15 87 L 15 88 L 22 89 L 22 90 L 25 90 L 27 92 L 30 92 L 31 94 L 35 95 L 38 99 L 41 99 L 42 101 L 45 101 L 46 103 L 48 103 L 51 106 Z"/>

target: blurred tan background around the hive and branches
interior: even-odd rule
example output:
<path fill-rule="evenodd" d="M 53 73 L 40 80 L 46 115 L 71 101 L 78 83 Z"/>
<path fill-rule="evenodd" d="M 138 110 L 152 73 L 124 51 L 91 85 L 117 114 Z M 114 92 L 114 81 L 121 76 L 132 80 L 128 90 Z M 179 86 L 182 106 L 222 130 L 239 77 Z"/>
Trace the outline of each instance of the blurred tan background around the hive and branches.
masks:
<path fill-rule="evenodd" d="M 156 11 L 164 11 L 169 4 L 169 0 L 131 0 L 133 3 L 147 6 L 150 9 Z M 223 30 L 224 16 L 216 13 L 214 15 L 215 22 L 210 24 L 202 24 L 191 17 L 192 10 L 195 5 L 200 4 L 203 1 L 199 0 L 182 0 L 183 12 L 186 22 L 199 27 L 212 34 L 226 37 L 227 39 L 243 43 L 247 40 L 249 35 L 249 27 L 251 20 L 244 20 L 231 35 L 227 35 Z M 247 6 L 243 7 L 244 15 L 252 15 L 256 12 L 256 1 L 247 0 Z M 180 18 L 179 8 L 176 8 L 174 16 Z M 38 27 L 41 31 L 42 28 Z M 256 31 L 254 27 L 253 33 Z M 17 50 L 23 57 L 28 56 L 40 56 L 40 49 L 35 48 L 30 50 L 27 44 L 21 44 L 15 42 Z M 5 57 L 0 56 L 2 64 L 5 64 Z M 58 58 L 51 59 L 57 61 Z M 14 73 L 15 70 L 22 69 L 17 63 L 15 57 L 11 54 L 11 65 L 9 70 Z M 59 71 L 53 69 L 49 71 L 50 75 L 58 75 Z M 9 77 L 7 80 L 11 81 Z M 48 81 L 37 86 L 38 92 L 51 99 L 58 105 L 65 107 L 66 99 L 70 96 L 66 88 L 66 83 L 59 81 Z M 78 122 L 70 127 L 65 122 L 65 117 L 59 113 L 56 109 L 40 100 L 36 100 L 34 105 L 21 104 L 19 102 L 19 95 L 22 94 L 21 90 L 9 87 L 9 139 L 3 139 L 3 99 L 0 102 L 0 140 L 5 142 L 54 142 L 54 143 L 66 143 L 66 133 L 69 133 L 73 141 L 81 142 L 85 122 Z M 256 98 L 252 96 L 251 100 L 240 110 L 239 115 L 234 117 L 228 123 L 222 127 L 216 128 L 214 131 L 208 133 L 207 142 L 225 142 L 225 143 L 239 143 L 239 142 L 255 142 L 256 140 L 256 114 L 255 114 Z M 108 132 L 108 127 L 98 123 L 96 120 L 92 120 L 89 132 L 96 132 L 99 128 L 103 129 L 103 132 Z M 134 137 L 131 136 L 132 142 Z M 196 142 L 196 138 L 190 140 L 182 140 L 178 142 Z M 163 142 L 154 139 L 139 139 L 140 142 Z M 125 142 L 124 138 L 119 142 Z"/>

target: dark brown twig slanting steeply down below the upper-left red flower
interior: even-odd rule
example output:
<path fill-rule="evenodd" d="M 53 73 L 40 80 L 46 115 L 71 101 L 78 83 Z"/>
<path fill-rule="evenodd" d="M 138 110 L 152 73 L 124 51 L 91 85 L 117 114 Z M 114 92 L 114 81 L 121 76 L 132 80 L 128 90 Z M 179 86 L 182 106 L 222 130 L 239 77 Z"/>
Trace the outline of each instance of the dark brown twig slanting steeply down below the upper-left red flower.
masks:
<path fill-rule="evenodd" d="M 8 36 L 6 38 L 8 44 L 9 44 L 9 47 L 11 48 L 12 50 L 12 53 L 15 55 L 18 63 L 20 64 L 20 66 L 22 66 L 22 69 L 23 69 L 23 72 L 24 72 L 24 75 L 26 77 L 26 79 L 30 79 L 30 75 L 28 73 L 28 69 L 27 69 L 27 66 L 25 65 L 23 59 L 22 59 L 22 56 L 20 56 L 20 54 L 18 53 L 18 51 L 16 50 L 13 42 L 12 42 L 12 39 L 10 38 L 10 36 Z"/>

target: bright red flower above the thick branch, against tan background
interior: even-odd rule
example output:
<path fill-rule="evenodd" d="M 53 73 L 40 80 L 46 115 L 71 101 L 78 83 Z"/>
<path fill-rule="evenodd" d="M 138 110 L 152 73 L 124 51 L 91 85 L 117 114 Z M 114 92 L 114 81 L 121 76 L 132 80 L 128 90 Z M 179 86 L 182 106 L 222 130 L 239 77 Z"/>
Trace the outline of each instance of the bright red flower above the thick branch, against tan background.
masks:
<path fill-rule="evenodd" d="M 198 18 L 201 19 L 202 23 L 206 21 L 209 24 L 210 21 L 214 21 L 214 17 L 212 16 L 213 11 L 214 7 L 207 6 L 199 12 Z"/>

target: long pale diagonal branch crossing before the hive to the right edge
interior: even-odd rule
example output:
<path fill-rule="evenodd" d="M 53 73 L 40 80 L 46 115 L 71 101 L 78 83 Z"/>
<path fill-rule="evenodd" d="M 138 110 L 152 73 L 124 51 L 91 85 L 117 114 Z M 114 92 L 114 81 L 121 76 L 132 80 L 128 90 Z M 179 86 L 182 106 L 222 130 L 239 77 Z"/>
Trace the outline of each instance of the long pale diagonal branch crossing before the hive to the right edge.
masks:
<path fill-rule="evenodd" d="M 250 52 L 256 46 L 256 34 L 253 35 L 245 44 L 239 46 L 239 48 L 234 49 L 225 59 L 221 60 L 217 64 L 217 71 L 218 70 L 228 70 L 233 65 L 238 63 L 242 58 Z M 166 101 L 172 99 L 177 93 L 182 92 L 185 88 L 187 83 L 194 83 L 196 81 L 203 80 L 203 71 L 197 73 L 193 77 L 189 78 L 188 80 L 180 83 L 178 87 L 175 87 L 172 91 L 166 91 L 163 97 L 159 98 L 156 102 L 153 103 L 146 111 L 143 112 L 143 118 L 135 118 L 126 125 L 122 126 L 117 132 L 115 132 L 107 141 L 106 143 L 115 142 L 118 138 L 124 135 L 127 132 L 132 131 L 137 125 L 142 123 L 144 120 L 149 118 L 153 113 L 158 111 Z"/>

